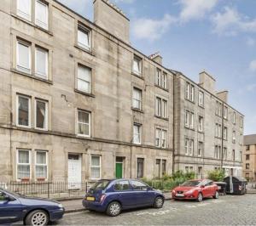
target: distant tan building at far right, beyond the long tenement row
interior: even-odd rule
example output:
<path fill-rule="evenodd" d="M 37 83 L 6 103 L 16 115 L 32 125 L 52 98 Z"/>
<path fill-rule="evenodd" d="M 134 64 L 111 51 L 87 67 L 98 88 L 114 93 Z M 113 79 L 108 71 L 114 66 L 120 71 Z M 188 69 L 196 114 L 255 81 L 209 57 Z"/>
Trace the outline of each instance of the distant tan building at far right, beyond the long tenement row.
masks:
<path fill-rule="evenodd" d="M 256 134 L 243 137 L 242 176 L 256 181 Z"/>

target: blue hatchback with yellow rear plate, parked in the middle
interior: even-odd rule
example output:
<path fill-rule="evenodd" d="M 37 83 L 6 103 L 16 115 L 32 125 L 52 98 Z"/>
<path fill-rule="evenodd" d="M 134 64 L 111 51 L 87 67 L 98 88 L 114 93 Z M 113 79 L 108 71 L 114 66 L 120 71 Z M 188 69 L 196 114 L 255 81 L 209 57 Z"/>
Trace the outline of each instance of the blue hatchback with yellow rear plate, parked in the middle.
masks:
<path fill-rule="evenodd" d="M 148 184 L 136 179 L 103 179 L 94 184 L 83 200 L 83 206 L 90 211 L 106 212 L 118 216 L 122 210 L 154 206 L 161 208 L 165 197 Z"/>

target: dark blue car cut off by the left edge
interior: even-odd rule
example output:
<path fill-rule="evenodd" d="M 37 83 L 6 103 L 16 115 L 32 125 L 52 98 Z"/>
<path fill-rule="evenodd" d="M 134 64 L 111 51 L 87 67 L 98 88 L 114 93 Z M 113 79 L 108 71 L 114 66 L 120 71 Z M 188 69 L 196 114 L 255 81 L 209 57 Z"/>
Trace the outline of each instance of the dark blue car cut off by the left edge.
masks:
<path fill-rule="evenodd" d="M 0 189 L 0 223 L 23 221 L 26 225 L 47 225 L 62 218 L 61 203 L 46 199 L 28 198 Z"/>

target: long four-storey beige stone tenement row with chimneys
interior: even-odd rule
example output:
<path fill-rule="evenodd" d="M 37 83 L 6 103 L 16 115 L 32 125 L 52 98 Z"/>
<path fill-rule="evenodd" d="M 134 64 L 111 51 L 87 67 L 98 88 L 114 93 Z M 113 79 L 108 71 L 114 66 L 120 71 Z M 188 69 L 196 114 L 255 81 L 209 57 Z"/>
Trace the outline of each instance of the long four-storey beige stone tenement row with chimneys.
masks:
<path fill-rule="evenodd" d="M 243 116 L 227 93 L 132 48 L 129 19 L 108 1 L 94 15 L 1 2 L 0 181 L 239 173 Z"/>

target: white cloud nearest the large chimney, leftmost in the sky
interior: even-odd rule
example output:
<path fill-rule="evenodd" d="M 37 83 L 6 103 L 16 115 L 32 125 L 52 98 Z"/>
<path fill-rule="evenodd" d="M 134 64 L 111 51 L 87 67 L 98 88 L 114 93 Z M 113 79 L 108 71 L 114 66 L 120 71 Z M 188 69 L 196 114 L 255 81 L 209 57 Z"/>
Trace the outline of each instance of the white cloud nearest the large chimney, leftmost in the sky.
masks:
<path fill-rule="evenodd" d="M 170 14 L 165 14 L 160 20 L 140 18 L 133 21 L 131 32 L 137 39 L 154 41 L 162 37 L 175 21 Z"/>

